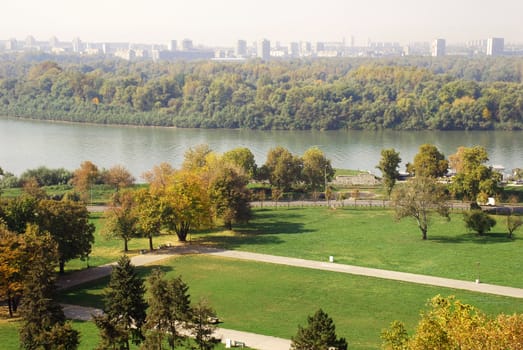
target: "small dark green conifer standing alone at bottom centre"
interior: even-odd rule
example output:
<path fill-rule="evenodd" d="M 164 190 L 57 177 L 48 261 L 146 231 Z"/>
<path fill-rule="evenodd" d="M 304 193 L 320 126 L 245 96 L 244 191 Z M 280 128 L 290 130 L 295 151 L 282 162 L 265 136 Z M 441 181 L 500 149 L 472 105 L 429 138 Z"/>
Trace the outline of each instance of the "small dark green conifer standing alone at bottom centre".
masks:
<path fill-rule="evenodd" d="M 307 316 L 307 327 L 298 326 L 298 332 L 291 340 L 293 350 L 347 349 L 347 341 L 337 337 L 334 321 L 322 309 L 313 316 Z"/>

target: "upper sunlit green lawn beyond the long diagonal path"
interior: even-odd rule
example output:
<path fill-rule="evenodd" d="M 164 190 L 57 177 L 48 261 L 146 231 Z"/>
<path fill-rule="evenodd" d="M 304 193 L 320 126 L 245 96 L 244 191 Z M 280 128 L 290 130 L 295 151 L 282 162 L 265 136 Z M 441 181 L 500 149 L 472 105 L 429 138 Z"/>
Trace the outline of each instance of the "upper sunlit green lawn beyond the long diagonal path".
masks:
<path fill-rule="evenodd" d="M 194 235 L 227 249 L 376 267 L 523 288 L 523 229 L 508 239 L 505 217 L 491 233 L 468 232 L 462 214 L 434 217 L 428 240 L 413 219 L 388 209 L 263 208 L 235 231 Z"/>

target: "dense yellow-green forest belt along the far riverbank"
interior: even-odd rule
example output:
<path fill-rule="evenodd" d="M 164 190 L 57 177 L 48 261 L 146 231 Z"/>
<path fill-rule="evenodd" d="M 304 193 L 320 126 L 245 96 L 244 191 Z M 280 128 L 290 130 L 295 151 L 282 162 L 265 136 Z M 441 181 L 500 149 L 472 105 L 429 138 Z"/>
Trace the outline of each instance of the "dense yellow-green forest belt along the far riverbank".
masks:
<path fill-rule="evenodd" d="M 0 115 L 259 130 L 521 130 L 523 58 L 0 57 Z"/>

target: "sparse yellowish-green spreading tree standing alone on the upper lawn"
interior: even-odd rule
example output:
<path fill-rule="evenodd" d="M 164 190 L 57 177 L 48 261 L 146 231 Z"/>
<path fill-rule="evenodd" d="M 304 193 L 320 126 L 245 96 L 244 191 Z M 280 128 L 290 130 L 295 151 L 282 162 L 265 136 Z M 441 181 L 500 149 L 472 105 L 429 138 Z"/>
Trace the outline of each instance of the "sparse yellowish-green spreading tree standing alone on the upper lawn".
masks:
<path fill-rule="evenodd" d="M 396 219 L 411 217 L 416 220 L 424 240 L 433 213 L 450 219 L 445 189 L 430 177 L 416 176 L 397 186 L 392 192 L 392 207 Z"/>

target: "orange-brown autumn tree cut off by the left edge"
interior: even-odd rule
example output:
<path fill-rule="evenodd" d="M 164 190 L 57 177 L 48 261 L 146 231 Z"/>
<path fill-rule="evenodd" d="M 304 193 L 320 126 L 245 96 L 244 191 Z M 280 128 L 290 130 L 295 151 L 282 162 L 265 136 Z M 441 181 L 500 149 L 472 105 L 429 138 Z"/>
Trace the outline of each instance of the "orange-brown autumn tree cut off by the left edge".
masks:
<path fill-rule="evenodd" d="M 0 300 L 7 301 L 9 317 L 13 317 L 22 297 L 25 251 L 24 235 L 0 223 Z"/>

